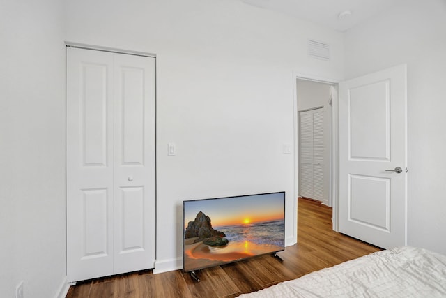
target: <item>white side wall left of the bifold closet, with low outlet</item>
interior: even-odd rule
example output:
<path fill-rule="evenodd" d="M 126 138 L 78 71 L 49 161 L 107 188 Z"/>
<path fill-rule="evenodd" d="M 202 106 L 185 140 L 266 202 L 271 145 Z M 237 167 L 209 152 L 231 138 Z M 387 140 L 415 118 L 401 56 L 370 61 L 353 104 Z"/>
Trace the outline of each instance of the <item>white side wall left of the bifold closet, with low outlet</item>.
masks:
<path fill-rule="evenodd" d="M 0 296 L 66 276 L 65 48 L 58 0 L 0 5 Z"/>

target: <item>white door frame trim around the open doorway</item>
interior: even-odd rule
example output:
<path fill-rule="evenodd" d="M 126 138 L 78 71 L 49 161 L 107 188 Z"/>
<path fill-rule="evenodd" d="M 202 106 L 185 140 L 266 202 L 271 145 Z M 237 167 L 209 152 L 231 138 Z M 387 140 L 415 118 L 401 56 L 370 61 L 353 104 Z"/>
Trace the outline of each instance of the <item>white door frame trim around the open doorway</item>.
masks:
<path fill-rule="evenodd" d="M 338 85 L 341 80 L 328 77 L 321 77 L 318 75 L 309 75 L 300 73 L 299 71 L 293 71 L 293 139 L 294 139 L 294 218 L 295 218 L 295 242 L 297 242 L 297 219 L 298 219 L 298 200 L 297 195 L 299 193 L 298 185 L 298 173 L 299 173 L 299 112 L 298 112 L 298 87 L 297 80 L 307 80 L 312 82 L 319 82 L 324 84 L 330 84 L 336 89 L 335 96 L 330 98 L 332 103 L 331 109 L 331 137 L 330 137 L 330 178 L 329 178 L 329 198 L 332 200 L 332 229 L 339 232 L 339 98 L 337 96 Z"/>

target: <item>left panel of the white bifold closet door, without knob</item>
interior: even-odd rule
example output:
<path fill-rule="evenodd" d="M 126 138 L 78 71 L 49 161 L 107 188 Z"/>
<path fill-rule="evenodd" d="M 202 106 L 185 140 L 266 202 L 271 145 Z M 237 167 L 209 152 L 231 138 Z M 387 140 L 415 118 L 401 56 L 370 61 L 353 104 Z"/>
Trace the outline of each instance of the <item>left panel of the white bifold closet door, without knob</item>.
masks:
<path fill-rule="evenodd" d="M 67 51 L 68 281 L 113 274 L 113 55 Z"/>

